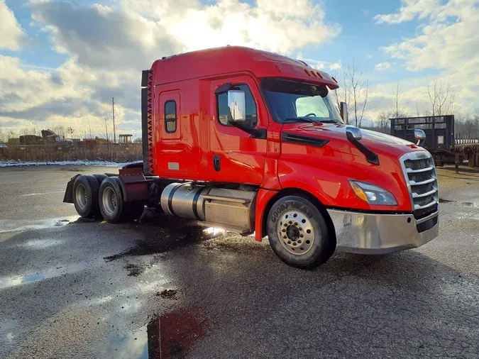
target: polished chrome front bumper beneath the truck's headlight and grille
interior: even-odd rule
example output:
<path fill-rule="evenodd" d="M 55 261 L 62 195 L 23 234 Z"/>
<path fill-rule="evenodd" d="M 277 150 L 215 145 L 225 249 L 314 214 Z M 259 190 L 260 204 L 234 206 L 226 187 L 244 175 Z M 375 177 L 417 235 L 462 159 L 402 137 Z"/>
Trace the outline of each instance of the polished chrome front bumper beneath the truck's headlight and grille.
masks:
<path fill-rule="evenodd" d="M 439 211 L 419 220 L 412 214 L 365 214 L 337 209 L 328 209 L 328 213 L 336 231 L 336 248 L 344 252 L 392 253 L 419 247 L 439 235 Z"/>

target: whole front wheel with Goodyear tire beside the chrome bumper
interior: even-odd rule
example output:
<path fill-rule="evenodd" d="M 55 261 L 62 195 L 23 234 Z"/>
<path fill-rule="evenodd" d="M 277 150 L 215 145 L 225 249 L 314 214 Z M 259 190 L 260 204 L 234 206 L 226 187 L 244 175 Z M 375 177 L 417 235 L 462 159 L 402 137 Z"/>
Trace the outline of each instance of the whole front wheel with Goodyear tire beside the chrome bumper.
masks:
<path fill-rule="evenodd" d="M 329 238 L 324 216 L 308 199 L 279 199 L 272 205 L 267 221 L 271 248 L 288 265 L 314 268 L 334 253 L 336 241 Z"/>

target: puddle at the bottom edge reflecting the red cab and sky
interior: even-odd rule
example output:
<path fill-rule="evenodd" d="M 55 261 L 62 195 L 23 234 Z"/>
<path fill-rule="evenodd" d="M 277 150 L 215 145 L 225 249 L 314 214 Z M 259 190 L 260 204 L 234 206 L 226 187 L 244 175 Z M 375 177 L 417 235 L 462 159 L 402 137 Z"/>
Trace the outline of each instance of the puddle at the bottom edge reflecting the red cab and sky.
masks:
<path fill-rule="evenodd" d="M 192 311 L 172 311 L 155 316 L 134 333 L 111 342 L 114 358 L 185 358 L 192 346 L 206 335 L 206 321 Z"/>

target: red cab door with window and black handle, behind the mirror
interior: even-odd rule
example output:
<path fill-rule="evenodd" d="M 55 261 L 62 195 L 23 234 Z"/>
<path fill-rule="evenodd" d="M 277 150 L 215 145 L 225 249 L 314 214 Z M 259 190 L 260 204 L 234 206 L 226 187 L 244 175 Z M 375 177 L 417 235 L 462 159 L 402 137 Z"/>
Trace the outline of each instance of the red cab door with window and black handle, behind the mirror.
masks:
<path fill-rule="evenodd" d="M 264 136 L 252 136 L 228 123 L 228 94 L 215 94 L 218 87 L 228 82 L 245 93 L 246 122 L 263 129 Z M 211 98 L 209 177 L 215 182 L 261 184 L 267 152 L 268 112 L 256 82 L 247 75 L 214 80 Z"/>

